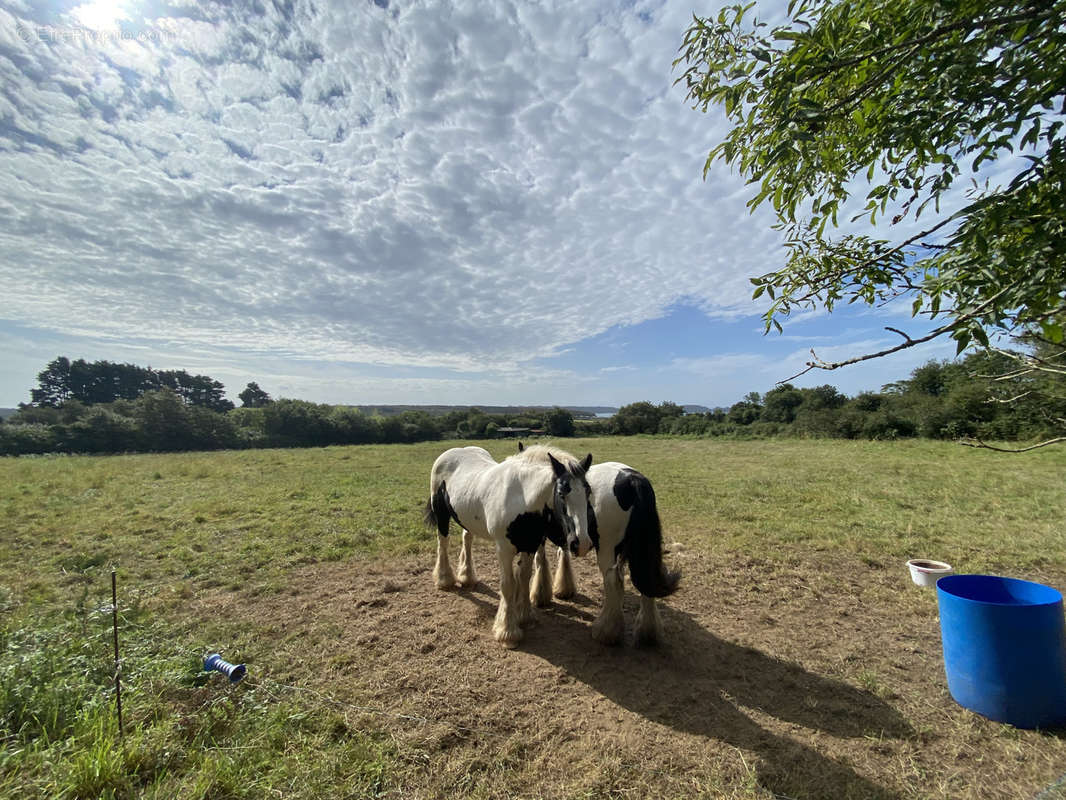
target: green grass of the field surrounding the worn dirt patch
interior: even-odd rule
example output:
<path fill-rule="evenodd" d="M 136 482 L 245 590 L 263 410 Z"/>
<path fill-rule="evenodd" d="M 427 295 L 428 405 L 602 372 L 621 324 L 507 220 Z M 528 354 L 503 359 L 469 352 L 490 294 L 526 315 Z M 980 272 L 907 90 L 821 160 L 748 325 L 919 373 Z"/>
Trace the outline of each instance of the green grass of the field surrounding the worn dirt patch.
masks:
<path fill-rule="evenodd" d="M 343 709 L 205 681 L 241 642 L 191 619 L 208 590 L 263 596 L 300 566 L 429 553 L 430 465 L 446 447 L 337 447 L 0 460 L 0 797 L 372 797 L 410 753 Z M 497 458 L 514 442 L 482 443 Z M 845 551 L 967 572 L 1066 572 L 1066 449 L 933 442 L 571 439 L 653 482 L 667 542 L 786 563 Z M 126 737 L 114 719 L 109 573 L 119 576 Z M 902 569 L 902 567 L 901 567 Z M 239 651 L 236 654 L 239 655 Z M 883 690 L 878 675 L 863 677 Z"/>

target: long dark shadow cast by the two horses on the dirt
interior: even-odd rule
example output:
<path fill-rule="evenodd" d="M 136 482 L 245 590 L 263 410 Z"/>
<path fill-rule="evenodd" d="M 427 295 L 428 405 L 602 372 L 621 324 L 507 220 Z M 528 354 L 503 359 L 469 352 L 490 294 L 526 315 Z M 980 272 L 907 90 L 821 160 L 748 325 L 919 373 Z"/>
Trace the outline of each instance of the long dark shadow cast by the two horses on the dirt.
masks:
<path fill-rule="evenodd" d="M 627 596 L 626 611 L 631 620 L 630 599 Z M 773 717 L 839 738 L 912 736 L 902 715 L 876 695 L 729 642 L 691 614 L 662 604 L 665 643 L 653 649 L 637 649 L 631 642 L 605 647 L 592 641 L 588 622 L 594 614 L 585 607 L 595 608 L 595 603 L 579 595 L 569 604 L 556 603 L 542 611 L 518 649 L 651 722 L 756 753 L 757 780 L 775 796 L 795 800 L 900 797 L 749 716 L 754 711 L 756 717 Z"/>

